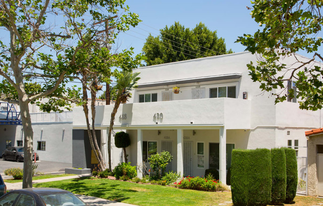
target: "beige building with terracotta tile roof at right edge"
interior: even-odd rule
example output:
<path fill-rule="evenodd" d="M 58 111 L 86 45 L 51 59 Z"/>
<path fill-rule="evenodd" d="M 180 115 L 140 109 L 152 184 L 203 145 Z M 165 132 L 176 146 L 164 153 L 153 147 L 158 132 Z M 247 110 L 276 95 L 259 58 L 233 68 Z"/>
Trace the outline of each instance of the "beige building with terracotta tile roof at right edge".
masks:
<path fill-rule="evenodd" d="M 306 131 L 308 195 L 323 197 L 323 128 Z"/>

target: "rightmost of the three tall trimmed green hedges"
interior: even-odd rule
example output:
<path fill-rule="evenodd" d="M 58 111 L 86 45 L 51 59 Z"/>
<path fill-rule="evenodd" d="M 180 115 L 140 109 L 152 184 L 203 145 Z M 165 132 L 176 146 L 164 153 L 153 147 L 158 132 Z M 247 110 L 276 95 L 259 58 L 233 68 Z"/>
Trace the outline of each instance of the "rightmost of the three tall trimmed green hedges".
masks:
<path fill-rule="evenodd" d="M 286 156 L 286 199 L 285 203 L 293 203 L 297 191 L 297 158 L 296 152 L 291 148 L 283 148 Z"/>

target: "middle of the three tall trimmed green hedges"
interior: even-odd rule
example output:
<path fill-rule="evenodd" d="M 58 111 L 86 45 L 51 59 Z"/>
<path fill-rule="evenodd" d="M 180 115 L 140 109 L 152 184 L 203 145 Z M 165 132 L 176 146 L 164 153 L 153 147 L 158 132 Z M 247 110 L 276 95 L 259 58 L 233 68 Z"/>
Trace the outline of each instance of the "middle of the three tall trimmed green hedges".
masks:
<path fill-rule="evenodd" d="M 271 149 L 271 204 L 281 205 L 286 198 L 286 156 L 283 149 Z"/>

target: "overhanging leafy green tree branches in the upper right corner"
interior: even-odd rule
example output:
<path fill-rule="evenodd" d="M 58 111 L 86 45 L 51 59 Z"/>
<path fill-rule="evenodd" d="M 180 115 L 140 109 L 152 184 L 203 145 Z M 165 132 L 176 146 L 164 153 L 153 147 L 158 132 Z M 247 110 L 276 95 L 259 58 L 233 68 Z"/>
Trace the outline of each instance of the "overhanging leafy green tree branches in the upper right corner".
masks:
<path fill-rule="evenodd" d="M 254 82 L 260 82 L 263 91 L 276 96 L 275 103 L 297 98 L 301 109 L 317 110 L 323 105 L 322 66 L 315 59 L 323 60 L 317 51 L 323 39 L 322 0 L 255 0 L 252 18 L 262 30 L 244 34 L 237 42 L 247 51 L 260 54 L 257 63 L 248 64 Z M 313 53 L 305 59 L 295 52 Z M 281 63 L 293 58 L 294 64 Z M 296 89 L 297 88 L 297 89 Z"/>

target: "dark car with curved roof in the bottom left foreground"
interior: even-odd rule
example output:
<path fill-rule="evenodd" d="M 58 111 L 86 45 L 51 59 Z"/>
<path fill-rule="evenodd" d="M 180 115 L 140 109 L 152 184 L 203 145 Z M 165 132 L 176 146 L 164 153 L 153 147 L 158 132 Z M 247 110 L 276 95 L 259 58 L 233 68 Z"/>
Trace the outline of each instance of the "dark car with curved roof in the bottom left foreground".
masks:
<path fill-rule="evenodd" d="M 13 190 L 0 197 L 0 206 L 88 206 L 73 193 L 57 188 Z"/>

